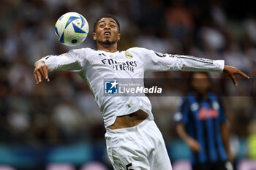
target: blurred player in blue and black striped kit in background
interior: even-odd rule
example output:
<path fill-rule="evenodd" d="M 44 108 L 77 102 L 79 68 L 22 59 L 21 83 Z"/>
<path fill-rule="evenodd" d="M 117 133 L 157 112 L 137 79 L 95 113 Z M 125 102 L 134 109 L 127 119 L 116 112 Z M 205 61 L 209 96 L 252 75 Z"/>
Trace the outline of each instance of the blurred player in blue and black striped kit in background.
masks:
<path fill-rule="evenodd" d="M 232 160 L 222 103 L 211 92 L 206 72 L 191 75 L 192 90 L 181 99 L 175 115 L 179 136 L 192 150 L 193 170 L 230 170 Z"/>

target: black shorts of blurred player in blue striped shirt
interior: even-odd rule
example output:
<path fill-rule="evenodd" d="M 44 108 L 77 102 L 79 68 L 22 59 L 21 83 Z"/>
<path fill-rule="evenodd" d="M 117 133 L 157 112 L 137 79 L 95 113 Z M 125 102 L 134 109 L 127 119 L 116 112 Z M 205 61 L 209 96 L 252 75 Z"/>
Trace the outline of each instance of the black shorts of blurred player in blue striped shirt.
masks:
<path fill-rule="evenodd" d="M 226 165 L 227 162 L 216 162 L 216 163 L 199 163 L 192 165 L 193 170 L 230 170 L 233 169 Z"/>

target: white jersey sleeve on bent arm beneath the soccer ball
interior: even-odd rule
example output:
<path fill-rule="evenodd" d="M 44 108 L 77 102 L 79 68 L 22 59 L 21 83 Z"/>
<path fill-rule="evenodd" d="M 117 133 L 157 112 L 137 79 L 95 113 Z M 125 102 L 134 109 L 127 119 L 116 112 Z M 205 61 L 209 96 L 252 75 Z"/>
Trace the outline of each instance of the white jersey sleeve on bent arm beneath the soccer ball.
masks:
<path fill-rule="evenodd" d="M 87 54 L 88 50 L 86 49 L 70 50 L 68 53 L 61 55 L 48 55 L 41 58 L 39 61 L 45 61 L 45 64 L 50 69 L 50 72 L 80 72 L 83 69 L 83 66 L 85 66 Z M 36 63 L 34 64 L 36 65 Z"/>

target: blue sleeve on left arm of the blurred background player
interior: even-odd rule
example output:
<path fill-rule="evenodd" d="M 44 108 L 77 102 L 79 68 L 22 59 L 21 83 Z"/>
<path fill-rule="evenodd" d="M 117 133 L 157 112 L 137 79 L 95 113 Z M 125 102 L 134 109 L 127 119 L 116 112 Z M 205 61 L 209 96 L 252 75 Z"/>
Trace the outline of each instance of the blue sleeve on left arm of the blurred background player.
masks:
<path fill-rule="evenodd" d="M 189 118 L 189 103 L 187 99 L 181 98 L 178 102 L 178 111 L 174 115 L 174 121 L 176 123 L 184 123 L 185 125 L 188 123 Z"/>

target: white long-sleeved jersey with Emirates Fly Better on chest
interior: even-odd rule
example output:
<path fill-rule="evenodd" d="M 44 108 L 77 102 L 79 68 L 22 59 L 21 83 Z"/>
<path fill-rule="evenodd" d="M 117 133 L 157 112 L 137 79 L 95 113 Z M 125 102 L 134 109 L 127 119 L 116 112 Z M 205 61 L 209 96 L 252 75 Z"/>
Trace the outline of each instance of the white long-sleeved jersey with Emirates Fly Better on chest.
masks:
<path fill-rule="evenodd" d="M 140 47 L 116 53 L 82 48 L 62 55 L 48 55 L 39 61 L 45 61 L 50 72 L 77 72 L 94 94 L 105 127 L 113 125 L 117 116 L 129 115 L 138 109 L 148 113 L 151 120 L 154 119 L 151 103 L 146 96 L 108 96 L 105 94 L 106 79 L 143 79 L 145 72 L 222 72 L 224 69 L 223 60 L 162 54 Z"/>

